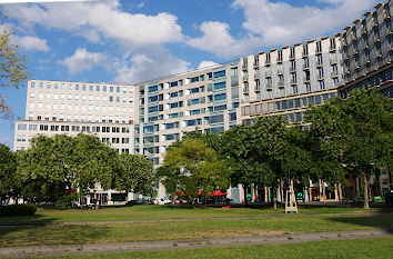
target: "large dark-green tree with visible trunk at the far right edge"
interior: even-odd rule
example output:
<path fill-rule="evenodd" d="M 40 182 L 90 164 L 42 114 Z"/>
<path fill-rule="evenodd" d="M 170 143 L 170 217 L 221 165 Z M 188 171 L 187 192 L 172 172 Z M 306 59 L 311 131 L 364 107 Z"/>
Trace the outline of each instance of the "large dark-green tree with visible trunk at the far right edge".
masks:
<path fill-rule="evenodd" d="M 311 129 L 340 150 L 340 160 L 361 173 L 364 208 L 369 209 L 369 178 L 375 168 L 392 168 L 392 103 L 374 90 L 355 90 L 347 100 L 333 98 L 306 113 Z"/>

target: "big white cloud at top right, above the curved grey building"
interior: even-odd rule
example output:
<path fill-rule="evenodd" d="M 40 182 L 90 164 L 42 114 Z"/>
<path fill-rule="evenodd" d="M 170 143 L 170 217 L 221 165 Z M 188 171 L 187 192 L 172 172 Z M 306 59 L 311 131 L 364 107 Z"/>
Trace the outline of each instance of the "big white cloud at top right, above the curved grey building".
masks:
<path fill-rule="evenodd" d="M 375 0 L 319 0 L 329 6 L 293 7 L 285 2 L 269 0 L 235 0 L 234 9 L 243 9 L 243 27 L 261 36 L 265 47 L 291 44 L 341 30 L 364 10 L 371 9 Z"/>

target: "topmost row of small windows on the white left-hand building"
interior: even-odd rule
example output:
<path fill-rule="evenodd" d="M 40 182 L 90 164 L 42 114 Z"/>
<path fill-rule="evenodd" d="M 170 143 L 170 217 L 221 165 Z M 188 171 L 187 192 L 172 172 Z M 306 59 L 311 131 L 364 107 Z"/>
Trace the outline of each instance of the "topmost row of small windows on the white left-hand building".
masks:
<path fill-rule="evenodd" d="M 51 83 L 51 82 L 30 82 L 30 88 L 36 88 L 38 86 L 39 89 L 54 89 L 54 90 L 82 90 L 82 91 L 103 91 L 103 92 L 123 92 L 123 93 L 133 93 L 132 87 L 107 87 L 107 86 L 93 86 L 93 84 L 73 84 L 73 83 Z"/>

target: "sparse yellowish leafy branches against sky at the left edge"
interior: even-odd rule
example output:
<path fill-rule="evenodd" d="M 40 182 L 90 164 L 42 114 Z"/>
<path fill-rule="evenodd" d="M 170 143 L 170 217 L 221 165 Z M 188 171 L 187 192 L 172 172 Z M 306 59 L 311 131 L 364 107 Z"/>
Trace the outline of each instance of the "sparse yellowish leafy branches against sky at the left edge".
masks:
<path fill-rule="evenodd" d="M 11 36 L 10 30 L 0 31 L 0 87 L 19 88 L 29 74 L 26 58 L 18 53 L 18 46 L 10 42 Z M 11 110 L 6 102 L 6 97 L 0 96 L 0 118 L 8 118 L 10 114 Z"/>

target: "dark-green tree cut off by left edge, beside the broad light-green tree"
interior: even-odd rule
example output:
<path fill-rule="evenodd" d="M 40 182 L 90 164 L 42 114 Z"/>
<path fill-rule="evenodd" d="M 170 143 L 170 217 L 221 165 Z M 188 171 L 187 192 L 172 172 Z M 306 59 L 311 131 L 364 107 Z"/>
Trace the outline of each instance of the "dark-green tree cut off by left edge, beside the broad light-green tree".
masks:
<path fill-rule="evenodd" d="M 17 157 L 9 147 L 0 143 L 0 200 L 4 200 L 6 197 L 18 200 L 20 188 Z"/>

